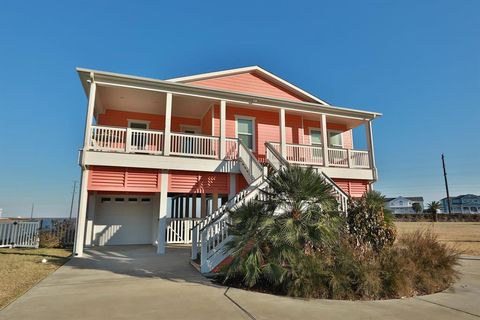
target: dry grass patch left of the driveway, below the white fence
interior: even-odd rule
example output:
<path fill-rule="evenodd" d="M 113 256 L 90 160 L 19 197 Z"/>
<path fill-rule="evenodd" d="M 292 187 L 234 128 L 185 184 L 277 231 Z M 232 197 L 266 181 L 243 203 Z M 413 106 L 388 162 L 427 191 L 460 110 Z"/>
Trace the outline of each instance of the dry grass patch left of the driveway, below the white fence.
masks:
<path fill-rule="evenodd" d="M 0 249 L 0 310 L 63 265 L 66 249 Z M 47 263 L 42 263 L 42 259 Z"/>

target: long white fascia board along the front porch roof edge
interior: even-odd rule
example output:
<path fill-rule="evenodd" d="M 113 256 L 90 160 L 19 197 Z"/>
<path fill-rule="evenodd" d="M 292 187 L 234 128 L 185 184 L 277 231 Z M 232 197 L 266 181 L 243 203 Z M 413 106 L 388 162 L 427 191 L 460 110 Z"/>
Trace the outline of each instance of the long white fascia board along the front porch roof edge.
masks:
<path fill-rule="evenodd" d="M 277 99 L 259 95 L 238 93 L 229 90 L 218 90 L 203 88 L 183 83 L 176 83 L 151 78 L 129 76 L 111 72 L 97 71 L 77 68 L 80 79 L 86 81 L 88 75 L 95 75 L 95 82 L 100 86 L 123 87 L 138 90 L 171 92 L 178 95 L 194 96 L 212 100 L 226 100 L 232 103 L 257 105 L 273 108 L 285 108 L 290 111 L 303 111 L 315 114 L 326 114 L 331 116 L 342 116 L 352 119 L 371 120 L 382 116 L 378 112 L 356 110 L 350 108 L 322 105 L 312 102 L 298 102 L 284 99 Z M 85 84 L 84 84 L 85 87 Z"/>

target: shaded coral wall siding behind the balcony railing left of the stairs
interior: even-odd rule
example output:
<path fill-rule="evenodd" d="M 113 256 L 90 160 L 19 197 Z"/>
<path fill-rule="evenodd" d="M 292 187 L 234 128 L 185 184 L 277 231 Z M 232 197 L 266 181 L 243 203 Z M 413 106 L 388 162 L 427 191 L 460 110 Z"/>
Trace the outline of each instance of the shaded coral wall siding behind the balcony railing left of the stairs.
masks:
<path fill-rule="evenodd" d="M 100 114 L 97 123 L 99 125 L 126 128 L 128 127 L 128 119 L 150 121 L 150 129 L 152 130 L 165 129 L 165 116 L 163 115 L 111 109 L 107 109 L 104 114 Z M 200 119 L 172 116 L 172 131 L 174 132 L 180 132 L 181 125 L 200 126 L 200 124 Z"/>

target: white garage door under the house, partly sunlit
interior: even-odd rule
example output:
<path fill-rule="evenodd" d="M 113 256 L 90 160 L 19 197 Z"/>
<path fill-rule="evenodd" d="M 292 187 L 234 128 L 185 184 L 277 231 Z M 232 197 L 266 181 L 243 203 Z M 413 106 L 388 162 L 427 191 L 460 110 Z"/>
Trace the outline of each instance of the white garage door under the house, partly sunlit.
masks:
<path fill-rule="evenodd" d="M 152 199 L 149 197 L 98 197 L 94 243 L 125 245 L 152 243 Z"/>

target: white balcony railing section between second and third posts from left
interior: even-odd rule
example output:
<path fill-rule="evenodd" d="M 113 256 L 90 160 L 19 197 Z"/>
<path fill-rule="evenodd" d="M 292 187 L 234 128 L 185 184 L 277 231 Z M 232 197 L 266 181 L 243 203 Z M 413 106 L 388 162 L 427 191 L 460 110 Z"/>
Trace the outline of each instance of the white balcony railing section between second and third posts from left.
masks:
<path fill-rule="evenodd" d="M 187 133 L 172 133 L 170 154 L 218 159 L 220 138 Z"/>

